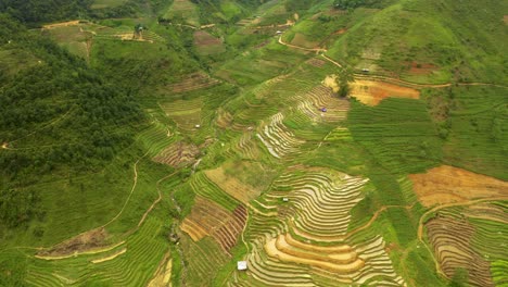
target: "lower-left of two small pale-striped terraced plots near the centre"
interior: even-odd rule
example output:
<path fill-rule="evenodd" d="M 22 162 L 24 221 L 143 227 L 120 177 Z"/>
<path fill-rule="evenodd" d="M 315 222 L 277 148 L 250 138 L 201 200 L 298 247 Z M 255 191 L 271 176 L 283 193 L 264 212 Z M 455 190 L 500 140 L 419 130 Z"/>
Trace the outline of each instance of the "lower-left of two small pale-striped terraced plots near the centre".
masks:
<path fill-rule="evenodd" d="M 281 113 L 277 113 L 271 117 L 270 123 L 263 127 L 263 132 L 257 134 L 257 138 L 268 149 L 268 152 L 277 159 L 299 153 L 299 146 L 304 144 L 284 126 L 283 118 Z"/>

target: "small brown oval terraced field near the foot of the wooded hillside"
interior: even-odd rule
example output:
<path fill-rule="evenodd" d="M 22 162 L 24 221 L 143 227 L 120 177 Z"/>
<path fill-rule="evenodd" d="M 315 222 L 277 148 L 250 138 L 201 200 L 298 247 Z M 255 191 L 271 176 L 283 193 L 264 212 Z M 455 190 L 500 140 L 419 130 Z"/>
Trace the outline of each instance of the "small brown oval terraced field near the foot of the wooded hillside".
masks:
<path fill-rule="evenodd" d="M 173 167 L 181 167 L 194 163 L 199 155 L 200 150 L 196 146 L 178 141 L 161 151 L 152 160 Z"/>

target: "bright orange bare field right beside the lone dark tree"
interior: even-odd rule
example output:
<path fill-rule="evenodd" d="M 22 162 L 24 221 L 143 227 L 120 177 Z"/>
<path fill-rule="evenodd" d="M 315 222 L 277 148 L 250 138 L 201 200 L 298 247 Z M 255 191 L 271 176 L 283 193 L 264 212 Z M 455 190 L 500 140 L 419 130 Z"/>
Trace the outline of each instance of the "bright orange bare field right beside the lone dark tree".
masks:
<path fill-rule="evenodd" d="M 351 83 L 351 97 L 358 99 L 368 105 L 377 105 L 383 99 L 394 98 L 420 98 L 420 91 L 384 82 L 356 79 Z"/>

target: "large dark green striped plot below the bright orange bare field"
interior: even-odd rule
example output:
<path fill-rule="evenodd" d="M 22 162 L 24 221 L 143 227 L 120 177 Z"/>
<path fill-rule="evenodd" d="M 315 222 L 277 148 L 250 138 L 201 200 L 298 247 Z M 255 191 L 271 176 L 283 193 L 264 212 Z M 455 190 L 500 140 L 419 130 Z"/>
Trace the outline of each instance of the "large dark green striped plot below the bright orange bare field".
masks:
<path fill-rule="evenodd" d="M 416 173 L 442 159 L 442 141 L 422 101 L 390 98 L 376 107 L 352 102 L 353 138 L 392 173 Z"/>

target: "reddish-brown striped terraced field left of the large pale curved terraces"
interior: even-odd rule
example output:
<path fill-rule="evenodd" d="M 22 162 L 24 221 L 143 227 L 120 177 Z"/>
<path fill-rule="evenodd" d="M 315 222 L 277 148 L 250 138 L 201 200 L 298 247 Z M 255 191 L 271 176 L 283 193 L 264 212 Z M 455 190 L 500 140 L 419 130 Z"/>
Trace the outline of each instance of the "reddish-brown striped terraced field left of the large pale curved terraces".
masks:
<path fill-rule="evenodd" d="M 191 213 L 180 225 L 192 240 L 212 236 L 226 251 L 237 245 L 238 237 L 246 224 L 247 210 L 239 205 L 232 213 L 219 204 L 198 196 Z"/>

